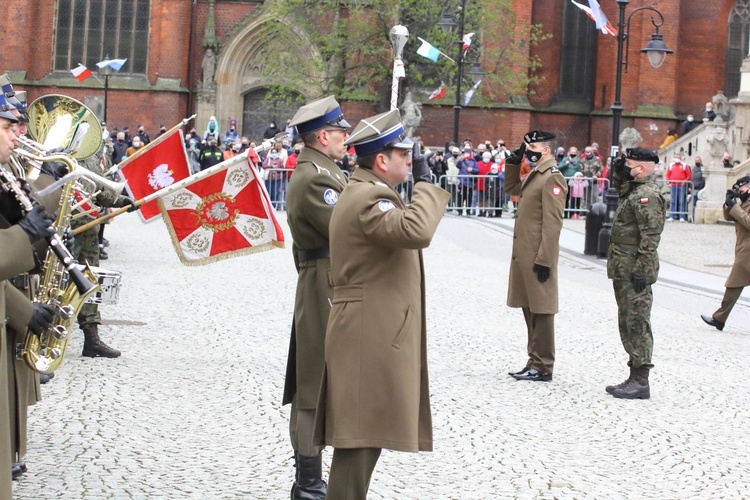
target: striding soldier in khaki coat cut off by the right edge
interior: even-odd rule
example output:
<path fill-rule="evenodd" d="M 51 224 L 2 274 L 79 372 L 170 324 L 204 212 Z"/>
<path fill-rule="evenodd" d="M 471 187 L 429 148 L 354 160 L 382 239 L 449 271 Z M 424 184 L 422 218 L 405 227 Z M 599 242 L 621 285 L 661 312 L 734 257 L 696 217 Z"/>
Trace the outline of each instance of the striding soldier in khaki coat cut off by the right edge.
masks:
<path fill-rule="evenodd" d="M 742 290 L 750 285 L 750 177 L 738 179 L 735 188 L 727 191 L 724 203 L 724 220 L 734 221 L 734 263 L 724 285 L 721 307 L 711 316 L 701 315 L 703 321 L 717 330 L 724 329 Z"/>

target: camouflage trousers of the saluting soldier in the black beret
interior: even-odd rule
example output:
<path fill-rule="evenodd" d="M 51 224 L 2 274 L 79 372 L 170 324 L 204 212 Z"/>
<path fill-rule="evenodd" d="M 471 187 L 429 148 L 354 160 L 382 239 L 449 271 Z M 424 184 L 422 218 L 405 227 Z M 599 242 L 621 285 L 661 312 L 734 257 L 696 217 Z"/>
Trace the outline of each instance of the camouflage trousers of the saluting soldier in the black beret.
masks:
<path fill-rule="evenodd" d="M 653 368 L 651 354 L 654 350 L 654 336 L 651 333 L 651 305 L 654 294 L 651 285 L 641 293 L 636 293 L 633 284 L 626 280 L 614 280 L 612 286 L 617 301 L 617 323 L 620 327 L 620 340 L 630 359 L 628 366 L 633 368 Z"/>

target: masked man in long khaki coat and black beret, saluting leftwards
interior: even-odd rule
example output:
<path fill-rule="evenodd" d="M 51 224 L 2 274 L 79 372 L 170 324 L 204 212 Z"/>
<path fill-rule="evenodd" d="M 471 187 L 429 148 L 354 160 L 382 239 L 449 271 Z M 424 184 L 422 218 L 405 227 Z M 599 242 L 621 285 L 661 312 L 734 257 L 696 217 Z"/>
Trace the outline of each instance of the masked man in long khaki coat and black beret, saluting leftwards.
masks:
<path fill-rule="evenodd" d="M 508 306 L 522 309 L 528 335 L 526 366 L 509 373 L 517 380 L 552 380 L 555 363 L 557 260 L 568 193 L 565 178 L 557 168 L 555 151 L 554 134 L 533 130 L 506 160 L 505 192 L 519 197 Z M 521 179 L 524 156 L 534 168 Z"/>

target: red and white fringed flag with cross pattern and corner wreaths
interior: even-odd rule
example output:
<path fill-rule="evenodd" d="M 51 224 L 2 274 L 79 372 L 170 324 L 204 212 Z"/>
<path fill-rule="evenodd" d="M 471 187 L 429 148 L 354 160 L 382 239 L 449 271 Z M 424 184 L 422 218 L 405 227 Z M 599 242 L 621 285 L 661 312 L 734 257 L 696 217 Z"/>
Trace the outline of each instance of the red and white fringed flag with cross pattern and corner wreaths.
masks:
<path fill-rule="evenodd" d="M 265 185 L 247 161 L 166 195 L 159 205 L 187 266 L 284 247 Z"/>

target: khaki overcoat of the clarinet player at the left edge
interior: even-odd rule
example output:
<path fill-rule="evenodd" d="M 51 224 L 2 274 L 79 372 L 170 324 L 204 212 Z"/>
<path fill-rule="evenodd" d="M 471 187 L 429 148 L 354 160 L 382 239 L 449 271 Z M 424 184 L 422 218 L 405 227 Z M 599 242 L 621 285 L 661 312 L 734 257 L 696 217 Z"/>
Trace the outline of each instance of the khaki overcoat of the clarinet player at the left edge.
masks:
<path fill-rule="evenodd" d="M 5 280 L 33 267 L 31 243 L 24 230 L 20 226 L 0 230 L 0 319 L 3 320 L 0 325 L 0 498 L 12 498 L 10 470 L 14 453 L 8 393 L 11 345 L 6 326 L 25 327 L 31 319 L 32 308 L 31 302 Z"/>

